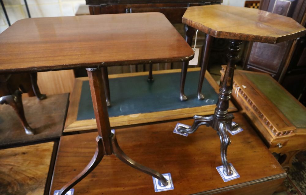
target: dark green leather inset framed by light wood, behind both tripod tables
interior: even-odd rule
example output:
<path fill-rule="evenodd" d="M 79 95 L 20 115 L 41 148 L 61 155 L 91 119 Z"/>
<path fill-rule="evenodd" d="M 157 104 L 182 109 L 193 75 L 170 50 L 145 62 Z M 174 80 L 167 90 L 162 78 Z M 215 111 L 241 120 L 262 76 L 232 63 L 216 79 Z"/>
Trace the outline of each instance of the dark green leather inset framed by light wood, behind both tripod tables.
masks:
<path fill-rule="evenodd" d="M 132 76 L 110 79 L 110 117 L 138 113 L 159 112 L 179 108 L 192 108 L 217 103 L 218 94 L 207 80 L 202 92 L 204 100 L 197 99 L 199 71 L 188 72 L 185 83 L 187 101 L 180 101 L 181 73 L 155 74 L 154 82 L 147 82 L 147 76 Z M 82 85 L 77 120 L 95 119 L 89 82 Z"/>

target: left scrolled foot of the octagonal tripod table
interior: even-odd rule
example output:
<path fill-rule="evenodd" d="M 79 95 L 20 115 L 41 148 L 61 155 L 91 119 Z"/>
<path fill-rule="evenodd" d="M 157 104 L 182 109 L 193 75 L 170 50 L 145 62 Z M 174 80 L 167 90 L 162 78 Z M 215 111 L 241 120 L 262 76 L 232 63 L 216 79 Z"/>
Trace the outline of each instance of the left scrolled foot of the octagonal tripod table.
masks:
<path fill-rule="evenodd" d="M 200 116 L 200 115 L 194 115 L 193 116 L 193 124 L 190 128 L 185 128 L 185 127 L 178 127 L 177 131 L 180 133 L 194 133 L 196 129 L 198 129 L 201 125 L 206 125 L 206 126 L 211 126 L 214 116 Z"/>

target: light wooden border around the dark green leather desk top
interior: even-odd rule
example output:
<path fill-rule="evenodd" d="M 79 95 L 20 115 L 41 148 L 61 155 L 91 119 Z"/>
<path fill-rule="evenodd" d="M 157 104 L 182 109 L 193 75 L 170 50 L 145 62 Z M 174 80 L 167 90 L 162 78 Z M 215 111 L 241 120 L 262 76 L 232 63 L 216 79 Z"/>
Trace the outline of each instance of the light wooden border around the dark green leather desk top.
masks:
<path fill-rule="evenodd" d="M 188 71 L 199 71 L 199 70 L 200 68 L 188 69 Z M 160 70 L 160 71 L 153 71 L 153 74 L 156 75 L 156 74 L 166 74 L 166 73 L 177 73 L 180 71 L 181 71 L 180 69 Z M 118 77 L 141 76 L 141 75 L 147 75 L 147 74 L 148 74 L 147 72 L 114 74 L 114 75 L 109 75 L 109 78 L 112 79 L 112 78 L 118 78 Z M 208 80 L 209 84 L 215 89 L 215 92 L 218 93 L 219 86 L 208 72 L 205 74 L 205 78 Z M 86 80 L 88 80 L 88 77 L 76 78 L 75 80 L 73 93 L 70 95 L 70 103 L 69 103 L 69 109 L 68 109 L 67 118 L 65 122 L 64 132 L 97 129 L 95 119 L 76 120 L 77 113 L 78 113 L 78 107 L 80 103 L 82 84 Z M 214 113 L 215 108 L 216 108 L 216 105 L 214 104 L 214 105 L 206 105 L 206 106 L 195 107 L 195 108 L 182 108 L 182 109 L 177 109 L 177 110 L 110 117 L 110 126 L 116 127 L 116 126 L 141 124 L 141 123 L 146 123 L 146 122 L 157 122 L 157 121 L 164 121 L 164 120 L 187 118 L 187 117 L 192 117 L 193 115 L 196 115 L 196 114 L 210 115 Z M 237 111 L 237 109 L 230 102 L 229 112 L 233 112 L 233 111 Z"/>

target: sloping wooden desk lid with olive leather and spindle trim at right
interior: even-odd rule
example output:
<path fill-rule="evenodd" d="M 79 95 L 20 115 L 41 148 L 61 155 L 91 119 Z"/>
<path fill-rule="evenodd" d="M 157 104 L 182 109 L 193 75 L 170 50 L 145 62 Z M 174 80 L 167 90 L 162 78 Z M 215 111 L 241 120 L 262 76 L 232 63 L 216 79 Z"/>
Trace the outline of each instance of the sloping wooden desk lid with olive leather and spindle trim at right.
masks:
<path fill-rule="evenodd" d="M 233 96 L 240 96 L 274 137 L 306 131 L 306 108 L 267 73 L 235 70 Z"/>

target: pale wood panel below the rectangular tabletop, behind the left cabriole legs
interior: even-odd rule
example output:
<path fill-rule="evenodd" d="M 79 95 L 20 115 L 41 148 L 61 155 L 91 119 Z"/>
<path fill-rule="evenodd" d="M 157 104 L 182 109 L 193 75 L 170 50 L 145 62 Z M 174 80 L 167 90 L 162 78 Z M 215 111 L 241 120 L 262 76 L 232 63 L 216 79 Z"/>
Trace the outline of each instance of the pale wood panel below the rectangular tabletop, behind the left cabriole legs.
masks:
<path fill-rule="evenodd" d="M 74 79 L 73 70 L 37 73 L 39 89 L 47 95 L 71 93 Z"/>

